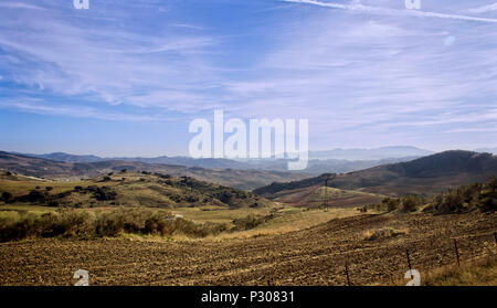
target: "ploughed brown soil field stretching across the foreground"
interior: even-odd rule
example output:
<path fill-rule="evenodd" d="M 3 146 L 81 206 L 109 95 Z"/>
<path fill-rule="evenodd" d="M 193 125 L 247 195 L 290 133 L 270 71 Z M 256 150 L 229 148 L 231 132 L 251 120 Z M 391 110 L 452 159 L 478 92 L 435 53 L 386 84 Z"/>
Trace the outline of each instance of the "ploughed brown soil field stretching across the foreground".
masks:
<path fill-rule="evenodd" d="M 367 231 L 405 234 L 364 241 Z M 91 285 L 391 284 L 412 267 L 423 273 L 495 254 L 497 213 L 383 214 L 332 220 L 298 232 L 245 240 L 150 242 L 28 240 L 0 244 L 0 285 L 73 285 L 80 268 Z M 406 283 L 406 280 L 405 280 Z"/>

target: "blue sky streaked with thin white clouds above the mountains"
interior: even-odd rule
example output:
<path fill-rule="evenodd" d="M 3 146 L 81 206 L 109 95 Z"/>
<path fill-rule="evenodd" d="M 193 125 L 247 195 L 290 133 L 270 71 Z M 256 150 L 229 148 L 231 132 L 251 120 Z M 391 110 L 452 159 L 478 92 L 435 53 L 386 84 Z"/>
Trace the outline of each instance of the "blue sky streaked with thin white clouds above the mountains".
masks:
<path fill-rule="evenodd" d="M 215 109 L 310 150 L 496 147 L 497 2 L 0 0 L 0 150 L 187 155 Z"/>

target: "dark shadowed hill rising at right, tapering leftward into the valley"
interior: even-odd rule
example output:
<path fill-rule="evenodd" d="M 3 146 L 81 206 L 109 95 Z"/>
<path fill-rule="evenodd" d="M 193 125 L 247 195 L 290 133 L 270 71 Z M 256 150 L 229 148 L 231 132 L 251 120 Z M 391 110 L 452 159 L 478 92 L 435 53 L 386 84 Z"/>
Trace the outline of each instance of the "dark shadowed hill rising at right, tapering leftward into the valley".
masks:
<path fill-rule="evenodd" d="M 485 182 L 497 174 L 497 157 L 472 151 L 445 151 L 408 162 L 379 166 L 346 174 L 321 174 L 316 178 L 286 183 L 272 183 L 254 192 L 275 198 L 277 192 L 324 185 L 345 190 L 398 195 L 406 193 L 434 193 L 448 187 Z"/>

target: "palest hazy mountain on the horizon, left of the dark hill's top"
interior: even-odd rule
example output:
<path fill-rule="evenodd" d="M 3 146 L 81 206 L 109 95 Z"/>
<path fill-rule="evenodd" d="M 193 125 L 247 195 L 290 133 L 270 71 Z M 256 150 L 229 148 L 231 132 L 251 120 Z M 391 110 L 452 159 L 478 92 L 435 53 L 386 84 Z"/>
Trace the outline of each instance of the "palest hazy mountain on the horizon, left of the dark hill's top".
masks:
<path fill-rule="evenodd" d="M 381 160 L 403 157 L 422 157 L 433 153 L 416 147 L 382 147 L 374 149 L 334 149 L 310 151 L 310 159 Z"/>

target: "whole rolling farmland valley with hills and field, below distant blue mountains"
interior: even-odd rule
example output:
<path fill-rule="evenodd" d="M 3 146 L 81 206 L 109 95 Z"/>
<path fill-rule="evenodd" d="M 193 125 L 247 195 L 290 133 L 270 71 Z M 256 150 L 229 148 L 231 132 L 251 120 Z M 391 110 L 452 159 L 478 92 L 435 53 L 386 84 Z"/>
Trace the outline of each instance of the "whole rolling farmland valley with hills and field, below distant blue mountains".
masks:
<path fill-rule="evenodd" d="M 352 285 L 405 285 L 406 251 L 422 284 L 495 285 L 496 166 L 448 151 L 253 191 L 130 164 L 84 179 L 3 166 L 0 285 L 84 268 L 91 285 L 343 286 L 346 264 Z M 454 241 L 479 276 L 457 276 Z"/>

